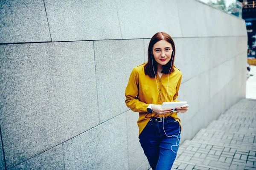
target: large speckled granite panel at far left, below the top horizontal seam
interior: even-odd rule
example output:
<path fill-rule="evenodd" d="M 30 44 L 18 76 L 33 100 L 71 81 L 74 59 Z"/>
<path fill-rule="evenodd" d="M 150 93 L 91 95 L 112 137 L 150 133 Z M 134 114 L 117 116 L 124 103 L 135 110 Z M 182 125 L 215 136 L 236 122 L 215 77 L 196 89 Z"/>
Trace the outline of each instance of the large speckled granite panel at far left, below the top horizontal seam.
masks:
<path fill-rule="evenodd" d="M 1 47 L 0 119 L 7 167 L 99 124 L 93 42 Z"/>

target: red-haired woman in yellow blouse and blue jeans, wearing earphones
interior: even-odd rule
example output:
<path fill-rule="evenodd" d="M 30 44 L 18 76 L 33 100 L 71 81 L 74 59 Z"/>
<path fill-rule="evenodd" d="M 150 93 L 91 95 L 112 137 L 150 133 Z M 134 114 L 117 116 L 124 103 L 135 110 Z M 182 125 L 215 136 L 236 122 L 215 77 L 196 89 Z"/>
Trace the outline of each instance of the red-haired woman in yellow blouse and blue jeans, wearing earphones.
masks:
<path fill-rule="evenodd" d="M 164 32 L 155 34 L 148 45 L 148 62 L 133 69 L 125 90 L 125 103 L 139 112 L 140 144 L 153 170 L 170 170 L 180 143 L 180 118 L 189 106 L 162 108 L 177 100 L 182 74 L 173 62 L 175 44 Z"/>

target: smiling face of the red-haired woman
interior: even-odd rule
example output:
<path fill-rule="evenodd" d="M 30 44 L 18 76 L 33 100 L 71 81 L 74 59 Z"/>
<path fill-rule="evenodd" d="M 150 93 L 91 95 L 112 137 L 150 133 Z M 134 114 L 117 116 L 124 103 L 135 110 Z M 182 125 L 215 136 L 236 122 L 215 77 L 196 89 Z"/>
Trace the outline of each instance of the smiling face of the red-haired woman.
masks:
<path fill-rule="evenodd" d="M 166 65 L 172 57 L 172 45 L 166 40 L 160 40 L 153 46 L 154 59 L 157 66 Z"/>

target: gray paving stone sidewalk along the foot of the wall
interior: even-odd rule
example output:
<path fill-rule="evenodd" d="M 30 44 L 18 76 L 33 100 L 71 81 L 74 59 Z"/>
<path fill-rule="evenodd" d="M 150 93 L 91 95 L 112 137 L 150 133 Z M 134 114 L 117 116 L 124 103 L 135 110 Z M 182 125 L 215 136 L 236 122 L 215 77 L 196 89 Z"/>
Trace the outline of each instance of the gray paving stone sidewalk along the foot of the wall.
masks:
<path fill-rule="evenodd" d="M 180 145 L 172 170 L 256 170 L 256 100 L 242 99 Z"/>

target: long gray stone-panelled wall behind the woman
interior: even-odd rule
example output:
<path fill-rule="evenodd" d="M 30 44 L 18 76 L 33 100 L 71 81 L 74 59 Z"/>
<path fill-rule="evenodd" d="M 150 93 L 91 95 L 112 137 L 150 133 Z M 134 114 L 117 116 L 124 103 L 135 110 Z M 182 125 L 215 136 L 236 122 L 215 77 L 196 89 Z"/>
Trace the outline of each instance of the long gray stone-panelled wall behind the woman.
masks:
<path fill-rule="evenodd" d="M 148 169 L 124 92 L 159 31 L 190 106 L 181 142 L 245 97 L 244 20 L 196 0 L 3 0 L 0 16 L 0 169 Z"/>

